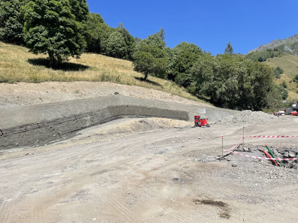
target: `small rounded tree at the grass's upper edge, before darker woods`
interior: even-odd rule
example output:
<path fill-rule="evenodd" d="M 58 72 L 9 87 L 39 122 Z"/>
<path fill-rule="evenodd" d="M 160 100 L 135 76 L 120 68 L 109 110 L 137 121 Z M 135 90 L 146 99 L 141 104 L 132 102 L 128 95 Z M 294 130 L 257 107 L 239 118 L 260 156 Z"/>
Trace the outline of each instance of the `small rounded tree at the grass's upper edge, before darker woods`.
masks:
<path fill-rule="evenodd" d="M 112 32 L 108 38 L 106 53 L 109 56 L 122 58 L 127 54 L 124 38 L 119 32 Z"/>

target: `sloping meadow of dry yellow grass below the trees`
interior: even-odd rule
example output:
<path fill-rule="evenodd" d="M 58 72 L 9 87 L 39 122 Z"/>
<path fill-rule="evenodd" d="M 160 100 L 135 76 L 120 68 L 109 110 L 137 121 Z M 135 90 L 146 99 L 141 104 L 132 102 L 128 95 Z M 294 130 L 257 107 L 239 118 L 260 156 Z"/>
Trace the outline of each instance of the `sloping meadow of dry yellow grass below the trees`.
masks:
<path fill-rule="evenodd" d="M 81 59 L 71 59 L 60 69 L 48 68 L 46 64 L 46 55 L 33 55 L 27 48 L 0 42 L 0 82 L 110 81 L 161 90 L 206 103 L 173 81 L 156 77 L 149 77 L 149 82 L 141 81 L 143 75 L 135 72 L 132 63 L 126 60 L 85 53 Z"/>

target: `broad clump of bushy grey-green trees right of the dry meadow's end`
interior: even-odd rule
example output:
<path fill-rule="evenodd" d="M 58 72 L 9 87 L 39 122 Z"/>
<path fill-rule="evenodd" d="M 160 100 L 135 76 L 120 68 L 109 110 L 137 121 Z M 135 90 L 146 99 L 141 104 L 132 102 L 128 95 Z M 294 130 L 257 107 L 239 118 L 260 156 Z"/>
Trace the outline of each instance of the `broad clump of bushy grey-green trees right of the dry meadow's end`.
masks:
<path fill-rule="evenodd" d="M 196 94 L 217 106 L 260 110 L 280 103 L 282 92 L 274 84 L 268 65 L 229 54 L 201 56 L 191 74 Z"/>

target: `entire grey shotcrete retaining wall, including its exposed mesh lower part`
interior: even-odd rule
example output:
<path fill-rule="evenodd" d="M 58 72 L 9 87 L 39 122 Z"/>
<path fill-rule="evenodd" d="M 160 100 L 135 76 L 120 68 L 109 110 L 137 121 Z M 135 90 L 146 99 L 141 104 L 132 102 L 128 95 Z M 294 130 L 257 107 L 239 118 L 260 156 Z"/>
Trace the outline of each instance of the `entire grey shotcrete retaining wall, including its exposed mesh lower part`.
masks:
<path fill-rule="evenodd" d="M 1 109 L 0 150 L 59 141 L 74 132 L 123 117 L 193 121 L 193 116 L 199 114 L 216 121 L 237 113 L 121 95 Z"/>

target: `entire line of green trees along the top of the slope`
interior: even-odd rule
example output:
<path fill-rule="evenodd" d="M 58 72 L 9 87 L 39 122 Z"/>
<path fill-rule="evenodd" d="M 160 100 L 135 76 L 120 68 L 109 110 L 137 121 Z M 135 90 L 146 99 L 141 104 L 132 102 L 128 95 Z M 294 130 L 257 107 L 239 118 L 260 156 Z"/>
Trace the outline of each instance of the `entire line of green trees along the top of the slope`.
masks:
<path fill-rule="evenodd" d="M 112 28 L 89 12 L 86 0 L 2 0 L 0 15 L 1 41 L 48 54 L 50 66 L 89 51 L 131 60 L 144 81 L 148 76 L 174 81 L 224 108 L 261 110 L 285 97 L 284 87 L 273 82 L 273 69 L 237 56 L 231 43 L 216 56 L 184 41 L 170 49 L 163 29 L 146 39 L 134 38 L 122 23 Z"/>

